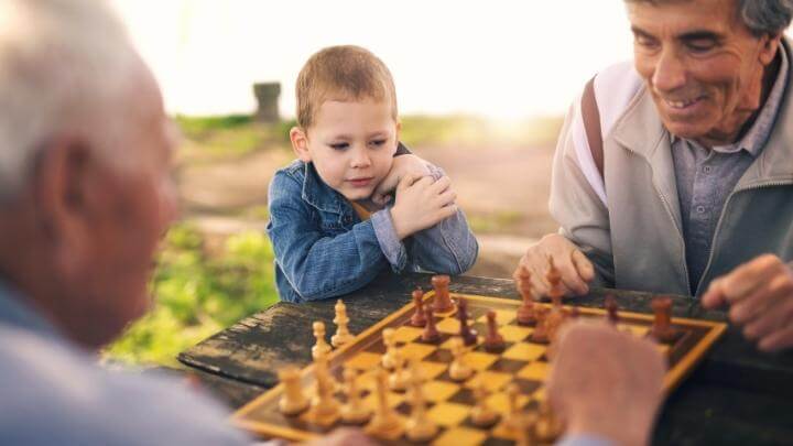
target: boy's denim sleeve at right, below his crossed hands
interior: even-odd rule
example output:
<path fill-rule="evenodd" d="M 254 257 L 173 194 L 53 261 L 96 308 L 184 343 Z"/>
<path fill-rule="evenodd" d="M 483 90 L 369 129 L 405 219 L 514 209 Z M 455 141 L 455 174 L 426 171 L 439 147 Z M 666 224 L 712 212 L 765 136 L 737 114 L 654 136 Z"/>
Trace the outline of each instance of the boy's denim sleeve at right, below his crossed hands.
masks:
<path fill-rule="evenodd" d="M 436 181 L 445 175 L 441 167 L 431 165 L 430 168 Z M 432 228 L 414 233 L 408 244 L 415 264 L 442 274 L 463 274 L 474 266 L 479 252 L 476 237 L 459 209 Z"/>

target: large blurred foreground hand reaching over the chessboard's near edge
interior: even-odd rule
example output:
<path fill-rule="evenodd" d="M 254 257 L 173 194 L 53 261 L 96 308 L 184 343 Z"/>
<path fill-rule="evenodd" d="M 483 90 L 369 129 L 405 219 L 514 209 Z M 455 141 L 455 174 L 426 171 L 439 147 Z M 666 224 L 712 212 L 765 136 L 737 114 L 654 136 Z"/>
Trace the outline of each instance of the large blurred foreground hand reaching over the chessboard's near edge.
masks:
<path fill-rule="evenodd" d="M 548 399 L 567 435 L 645 445 L 663 398 L 664 370 L 652 341 L 577 322 L 560 334 Z"/>

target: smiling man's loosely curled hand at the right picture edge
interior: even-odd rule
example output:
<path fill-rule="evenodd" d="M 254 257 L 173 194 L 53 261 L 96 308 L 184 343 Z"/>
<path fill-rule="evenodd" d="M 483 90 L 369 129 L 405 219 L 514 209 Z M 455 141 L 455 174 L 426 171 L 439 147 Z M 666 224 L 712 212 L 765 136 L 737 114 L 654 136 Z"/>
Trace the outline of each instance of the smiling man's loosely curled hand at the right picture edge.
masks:
<path fill-rule="evenodd" d="M 772 254 L 760 255 L 715 279 L 705 308 L 729 306 L 729 318 L 764 351 L 793 347 L 793 271 Z"/>

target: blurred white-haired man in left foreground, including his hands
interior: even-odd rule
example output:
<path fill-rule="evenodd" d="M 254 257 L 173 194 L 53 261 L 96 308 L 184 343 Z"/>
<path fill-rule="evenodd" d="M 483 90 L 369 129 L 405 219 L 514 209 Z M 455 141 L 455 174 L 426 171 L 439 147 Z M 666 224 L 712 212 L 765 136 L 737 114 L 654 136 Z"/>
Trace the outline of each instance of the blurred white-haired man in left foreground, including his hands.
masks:
<path fill-rule="evenodd" d="M 178 382 L 95 363 L 97 348 L 146 311 L 152 254 L 176 213 L 157 85 L 105 3 L 0 2 L 0 444 L 249 443 L 224 409 Z M 594 368 L 585 342 L 561 346 L 555 388 L 571 391 L 551 398 L 569 414 L 565 442 L 645 442 L 660 355 L 611 328 L 571 330 L 580 336 L 610 346 L 602 359 L 615 366 Z M 595 376 L 639 407 L 578 398 L 576 383 Z M 596 422 L 594 406 L 612 423 Z M 629 415 L 634 428 L 616 423 Z M 338 431 L 318 443 L 370 440 Z"/>

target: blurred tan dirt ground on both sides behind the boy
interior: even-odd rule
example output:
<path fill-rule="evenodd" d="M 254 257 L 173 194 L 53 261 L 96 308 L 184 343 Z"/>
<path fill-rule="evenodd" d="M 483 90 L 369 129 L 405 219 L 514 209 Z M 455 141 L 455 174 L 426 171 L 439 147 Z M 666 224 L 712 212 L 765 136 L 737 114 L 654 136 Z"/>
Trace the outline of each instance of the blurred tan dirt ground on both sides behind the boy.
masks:
<path fill-rule="evenodd" d="M 413 151 L 446 171 L 477 235 L 479 260 L 468 274 L 510 276 L 523 250 L 556 229 L 547 213 L 552 146 Z M 267 205 L 270 177 L 291 159 L 285 150 L 262 150 L 236 160 L 183 165 L 177 178 L 184 217 L 218 237 L 263 228 L 264 220 L 257 216 Z"/>

